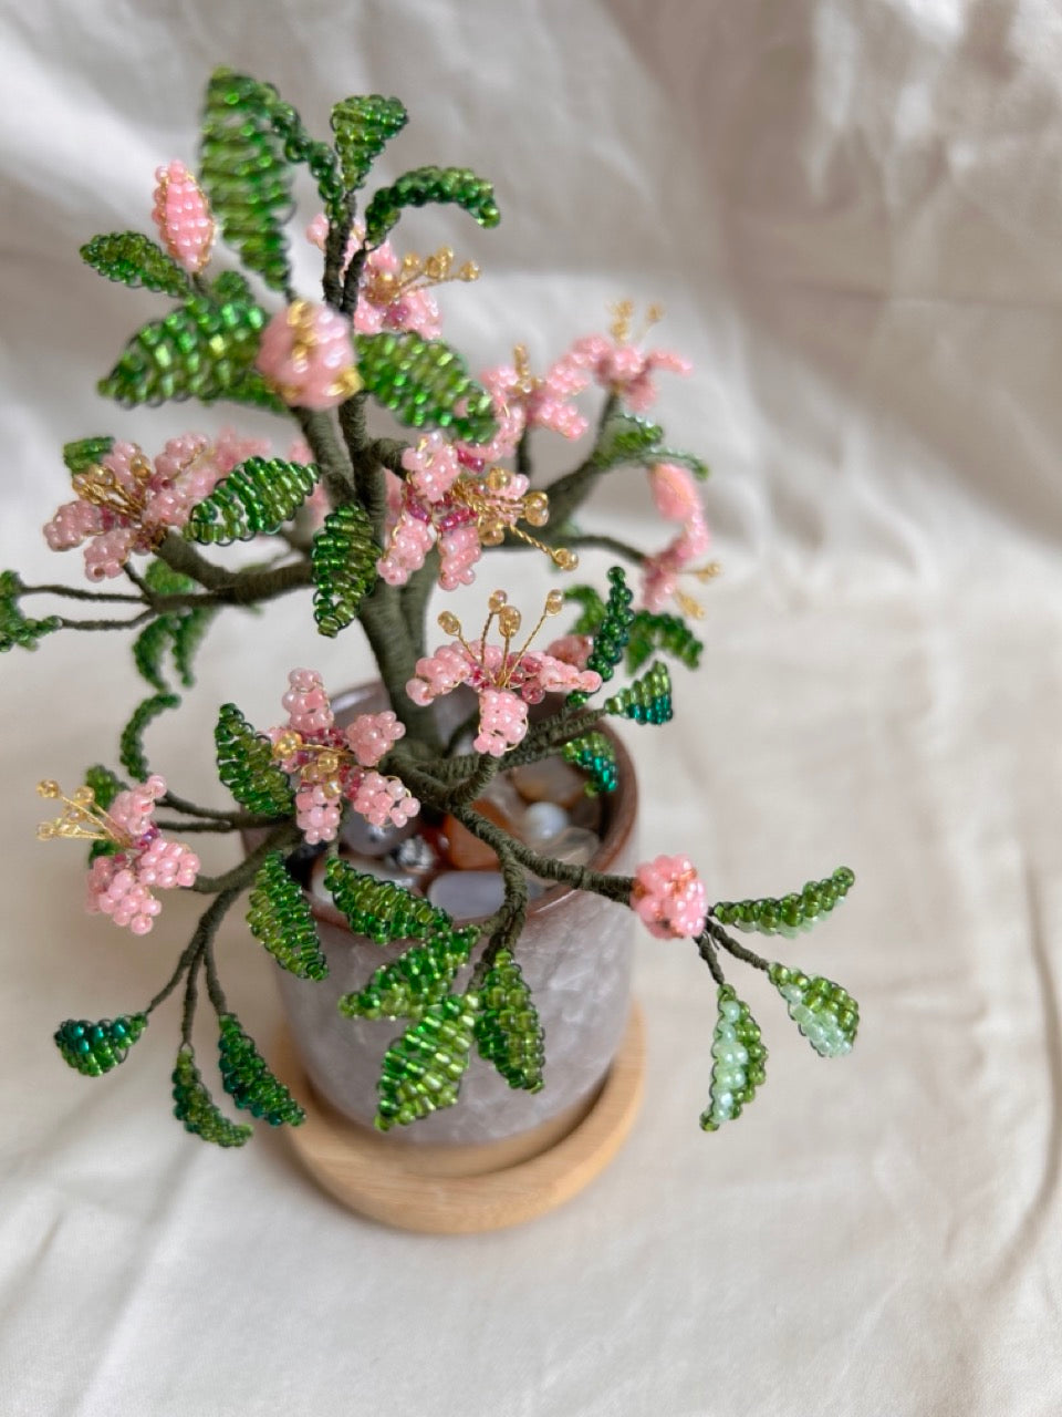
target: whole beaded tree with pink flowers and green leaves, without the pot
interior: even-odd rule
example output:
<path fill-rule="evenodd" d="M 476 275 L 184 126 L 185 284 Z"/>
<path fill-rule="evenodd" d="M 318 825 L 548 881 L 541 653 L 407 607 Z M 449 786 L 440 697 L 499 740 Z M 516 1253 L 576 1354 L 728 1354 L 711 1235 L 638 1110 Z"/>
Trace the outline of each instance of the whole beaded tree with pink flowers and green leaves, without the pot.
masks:
<path fill-rule="evenodd" d="M 351 930 L 381 944 L 406 942 L 340 1000 L 347 1016 L 401 1020 L 378 1084 L 381 1129 L 456 1102 L 473 1047 L 514 1088 L 537 1091 L 548 1080 L 518 962 L 530 883 L 547 881 L 630 905 L 661 939 L 695 942 L 718 988 L 701 1115 L 701 1125 L 715 1131 L 750 1101 L 766 1058 L 759 1026 L 724 978 L 724 956 L 769 975 L 821 1056 L 847 1053 L 858 1023 L 855 1003 L 838 985 L 762 959 L 728 927 L 793 935 L 828 914 L 852 876 L 843 869 L 777 900 L 709 905 L 688 856 L 658 856 L 633 876 L 607 874 L 528 845 L 481 809 L 497 774 L 551 758 L 579 769 L 585 792 L 606 801 L 619 769 L 602 720 L 661 724 L 671 717 L 668 669 L 656 656 L 692 669 L 701 655 L 688 623 L 700 608 L 683 582 L 715 570 L 698 565 L 708 547 L 698 493 L 707 468 L 667 448 L 663 431 L 641 417 L 656 401 L 656 373 L 684 374 L 688 366 L 666 350 L 646 350 L 626 303 L 616 307 L 609 334 L 576 340 L 541 377 L 523 347 L 479 383 L 469 377 L 439 339 L 436 292 L 473 281 L 476 266 L 455 265 L 447 248 L 426 259 L 399 256 L 391 234 L 408 207 L 432 203 L 453 203 L 493 227 L 491 186 L 466 169 L 418 167 L 378 187 L 355 220 L 372 163 L 405 122 L 395 99 L 344 99 L 333 109 L 329 145 L 309 136 L 272 86 L 219 69 L 207 88 L 198 176 L 180 162 L 157 171 L 152 215 L 160 242 L 127 231 L 82 248 L 109 279 L 173 302 L 133 334 L 102 380 L 102 394 L 125 407 L 228 400 L 289 417 L 299 435 L 283 456 L 235 432 L 184 434 L 154 458 L 112 436 L 68 444 L 74 497 L 47 523 L 45 537 L 57 551 L 84 547 L 91 581 L 119 580 L 125 588 L 25 585 L 11 571 L 0 577 L 0 648 L 35 649 L 61 629 L 136 631 L 133 657 L 152 690 L 122 730 L 120 774 L 92 767 L 69 798 L 55 782 L 40 785 L 42 796 L 62 802 L 41 837 L 91 840 L 88 908 L 135 934 L 153 930 L 160 891 L 208 898 L 150 1002 L 113 1020 L 68 1020 L 55 1041 L 79 1073 L 106 1073 L 183 986 L 174 1112 L 207 1141 L 242 1145 L 251 1128 L 217 1107 L 193 1050 L 204 983 L 218 1017 L 225 1093 L 252 1117 L 297 1125 L 300 1105 L 227 1002 L 214 941 L 227 911 L 249 891 L 253 937 L 313 988 L 329 961 L 293 863 L 317 847 L 327 856 L 323 888 Z M 324 256 L 321 300 L 296 295 L 287 261 L 285 225 L 300 163 L 324 204 L 307 230 Z M 212 264 L 215 234 L 246 275 Z M 251 278 L 279 302 L 259 303 Z M 650 323 L 654 317 L 650 312 Z M 568 439 L 589 434 L 576 400 L 590 385 L 603 390 L 603 400 L 589 446 L 573 470 L 534 487 L 532 429 Z M 374 404 L 412 429 L 411 441 L 374 436 L 367 427 Z M 599 479 L 620 466 L 647 472 L 660 514 L 674 524 L 658 553 L 573 524 Z M 201 550 L 252 540 L 268 550 L 242 568 Z M 562 582 L 535 632 L 565 605 L 578 618 L 541 650 L 534 632 L 524 633 L 520 609 L 496 589 L 486 597 L 477 638 L 466 638 L 453 612 L 443 611 L 438 623 L 446 640 L 428 652 L 425 619 L 436 584 L 445 592 L 472 585 L 484 553 L 501 547 L 537 547 L 565 575 L 576 568 L 578 547 L 609 550 L 637 570 L 640 608 L 619 565 L 603 597 Z M 178 706 L 174 686 L 193 683 L 193 659 L 211 622 L 227 606 L 265 605 L 309 588 L 320 635 L 361 626 L 389 708 L 340 726 L 320 676 L 295 669 L 285 723 L 258 731 L 235 704 L 221 706 L 214 747 L 235 806 L 205 808 L 177 795 L 152 772 L 143 734 Z M 122 618 L 31 619 L 21 602 L 34 595 L 106 602 Z M 602 697 L 620 667 L 634 677 Z M 474 713 L 443 738 L 433 706 L 456 690 Z M 535 704 L 542 710 L 532 718 Z M 487 918 L 462 924 L 428 896 L 360 870 L 331 845 L 351 820 L 399 833 L 442 818 L 497 857 L 501 903 Z M 180 840 L 236 829 L 258 829 L 261 845 L 219 876 L 204 874 Z"/>

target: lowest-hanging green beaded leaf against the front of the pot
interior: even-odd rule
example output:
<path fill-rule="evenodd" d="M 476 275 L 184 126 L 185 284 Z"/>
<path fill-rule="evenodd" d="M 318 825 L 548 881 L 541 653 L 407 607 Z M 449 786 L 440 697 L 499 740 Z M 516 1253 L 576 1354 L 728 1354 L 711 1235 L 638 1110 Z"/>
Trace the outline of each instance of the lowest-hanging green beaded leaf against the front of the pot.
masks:
<path fill-rule="evenodd" d="M 453 1107 L 469 1066 L 477 1013 L 477 995 L 447 995 L 394 1040 L 377 1083 L 374 1125 L 381 1132 Z"/>

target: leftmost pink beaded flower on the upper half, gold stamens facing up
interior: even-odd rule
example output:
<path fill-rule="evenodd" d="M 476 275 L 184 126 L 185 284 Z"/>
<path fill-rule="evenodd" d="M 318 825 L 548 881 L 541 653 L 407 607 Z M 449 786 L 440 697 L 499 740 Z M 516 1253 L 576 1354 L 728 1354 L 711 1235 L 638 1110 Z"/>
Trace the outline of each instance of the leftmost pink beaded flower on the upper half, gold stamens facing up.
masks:
<path fill-rule="evenodd" d="M 268 452 L 268 442 L 231 429 L 214 442 L 181 434 L 152 465 L 136 444 L 116 442 L 99 463 L 75 473 L 78 496 L 44 524 L 44 538 L 52 551 L 88 543 L 85 574 L 92 581 L 119 575 L 133 553 L 154 550 L 171 527 L 183 527 L 238 462 Z"/>

